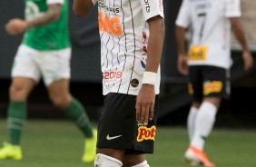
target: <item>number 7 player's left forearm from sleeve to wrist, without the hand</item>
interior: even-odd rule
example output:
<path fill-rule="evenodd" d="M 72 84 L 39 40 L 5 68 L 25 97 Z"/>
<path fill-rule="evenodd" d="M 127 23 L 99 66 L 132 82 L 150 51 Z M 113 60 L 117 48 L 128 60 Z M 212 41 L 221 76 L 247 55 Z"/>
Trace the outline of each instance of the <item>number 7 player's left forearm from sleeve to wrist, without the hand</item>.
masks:
<path fill-rule="evenodd" d="M 178 54 L 186 54 L 185 50 L 185 33 L 186 29 L 182 26 L 176 26 L 175 34 L 176 34 L 176 43 L 178 48 Z"/>

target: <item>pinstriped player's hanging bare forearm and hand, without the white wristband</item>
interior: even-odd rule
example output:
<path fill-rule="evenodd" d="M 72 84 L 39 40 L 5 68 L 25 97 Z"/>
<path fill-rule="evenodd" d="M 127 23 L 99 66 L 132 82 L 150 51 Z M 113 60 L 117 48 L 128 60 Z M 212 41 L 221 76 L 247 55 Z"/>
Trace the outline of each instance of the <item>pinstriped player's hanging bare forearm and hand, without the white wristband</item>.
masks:
<path fill-rule="evenodd" d="M 150 36 L 148 42 L 148 57 L 145 72 L 156 74 L 162 56 L 162 44 L 164 39 L 164 21 L 161 16 L 155 16 L 148 20 Z M 153 108 L 155 100 L 154 85 L 143 83 L 137 96 L 136 119 L 137 122 L 147 125 L 149 120 L 153 120 Z"/>

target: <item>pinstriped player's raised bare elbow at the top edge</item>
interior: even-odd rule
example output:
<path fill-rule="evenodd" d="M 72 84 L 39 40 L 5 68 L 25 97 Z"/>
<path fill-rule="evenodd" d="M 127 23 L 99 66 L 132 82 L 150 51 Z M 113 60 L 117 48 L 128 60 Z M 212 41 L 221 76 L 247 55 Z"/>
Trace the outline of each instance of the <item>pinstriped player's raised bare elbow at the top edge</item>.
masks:
<path fill-rule="evenodd" d="M 74 0 L 73 13 L 76 16 L 82 17 L 94 7 L 92 0 Z"/>

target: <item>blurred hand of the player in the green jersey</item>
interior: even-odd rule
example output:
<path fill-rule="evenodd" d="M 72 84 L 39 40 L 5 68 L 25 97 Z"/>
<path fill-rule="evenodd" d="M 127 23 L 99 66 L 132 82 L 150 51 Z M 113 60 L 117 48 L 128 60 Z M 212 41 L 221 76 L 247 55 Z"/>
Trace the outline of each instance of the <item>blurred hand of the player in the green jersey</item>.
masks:
<path fill-rule="evenodd" d="M 5 25 L 6 32 L 11 35 L 23 34 L 27 28 L 28 23 L 25 20 L 19 18 L 11 19 Z"/>

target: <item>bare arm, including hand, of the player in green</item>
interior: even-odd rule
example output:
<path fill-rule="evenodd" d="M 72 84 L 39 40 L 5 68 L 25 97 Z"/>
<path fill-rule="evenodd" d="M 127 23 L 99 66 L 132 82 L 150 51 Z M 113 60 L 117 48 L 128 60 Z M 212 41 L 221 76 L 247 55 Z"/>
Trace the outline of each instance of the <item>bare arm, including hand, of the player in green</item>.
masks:
<path fill-rule="evenodd" d="M 48 5 L 47 12 L 44 15 L 41 15 L 38 18 L 35 18 L 31 21 L 25 21 L 20 18 L 14 18 L 9 20 L 9 22 L 5 25 L 5 30 L 8 34 L 15 35 L 15 34 L 23 34 L 25 30 L 35 27 L 35 26 L 42 26 L 47 25 L 51 22 L 57 20 L 61 13 L 61 5 L 54 4 Z"/>

